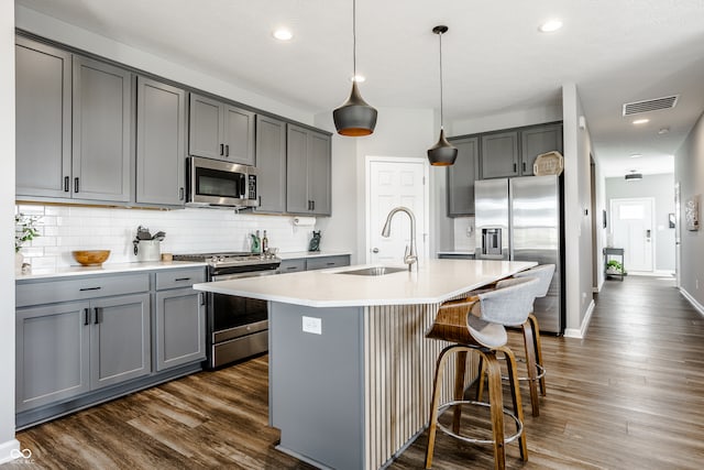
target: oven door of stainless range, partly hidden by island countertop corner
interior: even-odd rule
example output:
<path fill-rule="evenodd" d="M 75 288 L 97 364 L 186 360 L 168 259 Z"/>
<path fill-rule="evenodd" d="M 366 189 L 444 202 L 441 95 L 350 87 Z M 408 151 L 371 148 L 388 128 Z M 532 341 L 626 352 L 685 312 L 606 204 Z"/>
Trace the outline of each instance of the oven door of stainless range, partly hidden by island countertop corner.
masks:
<path fill-rule="evenodd" d="M 211 280 L 228 281 L 273 274 L 278 274 L 278 270 L 220 274 L 213 275 Z M 208 305 L 212 318 L 213 343 L 240 338 L 268 328 L 267 300 L 216 293 L 211 293 L 209 297 Z"/>

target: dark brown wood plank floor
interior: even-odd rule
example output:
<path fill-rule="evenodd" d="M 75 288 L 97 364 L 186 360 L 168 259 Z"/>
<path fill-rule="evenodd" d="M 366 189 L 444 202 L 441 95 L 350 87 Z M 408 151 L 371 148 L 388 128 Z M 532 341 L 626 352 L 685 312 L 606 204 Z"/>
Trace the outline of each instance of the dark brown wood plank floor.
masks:
<path fill-rule="evenodd" d="M 512 469 L 701 469 L 704 317 L 671 280 L 607 281 L 583 340 L 543 337 L 548 395 Z M 517 348 L 516 350 L 519 350 Z M 267 358 L 202 372 L 18 434 L 20 469 L 308 469 L 274 449 Z M 424 466 L 422 435 L 392 469 Z M 491 447 L 439 435 L 433 468 L 492 468 Z"/>

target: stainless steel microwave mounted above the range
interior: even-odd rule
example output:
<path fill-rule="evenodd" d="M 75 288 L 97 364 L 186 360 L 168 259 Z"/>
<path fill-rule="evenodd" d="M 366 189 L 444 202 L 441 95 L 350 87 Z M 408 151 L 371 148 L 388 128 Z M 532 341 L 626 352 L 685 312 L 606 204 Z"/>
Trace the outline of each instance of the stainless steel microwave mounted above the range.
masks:
<path fill-rule="evenodd" d="M 256 168 L 219 160 L 189 156 L 187 206 L 256 207 Z"/>

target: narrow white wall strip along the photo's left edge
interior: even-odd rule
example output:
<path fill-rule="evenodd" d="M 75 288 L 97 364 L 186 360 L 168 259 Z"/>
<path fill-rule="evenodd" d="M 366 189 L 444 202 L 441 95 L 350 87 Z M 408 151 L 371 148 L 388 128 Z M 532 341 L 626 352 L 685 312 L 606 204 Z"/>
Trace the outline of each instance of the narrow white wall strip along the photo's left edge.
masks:
<path fill-rule="evenodd" d="M 0 462 L 14 439 L 14 2 L 0 2 Z"/>

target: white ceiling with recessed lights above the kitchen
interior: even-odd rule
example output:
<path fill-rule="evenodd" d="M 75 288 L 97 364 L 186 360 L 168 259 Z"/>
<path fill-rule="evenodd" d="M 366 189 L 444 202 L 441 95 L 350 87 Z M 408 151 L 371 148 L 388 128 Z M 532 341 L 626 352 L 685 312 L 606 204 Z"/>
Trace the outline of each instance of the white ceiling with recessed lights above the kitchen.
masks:
<path fill-rule="evenodd" d="M 338 107 L 352 75 L 352 0 L 16 0 L 307 112 Z M 704 110 L 704 0 L 358 0 L 358 72 L 375 107 L 439 106 L 444 119 L 557 106 L 575 83 L 606 176 L 671 173 Z M 538 32 L 560 18 L 564 26 Z M 293 30 L 289 43 L 271 33 Z M 629 101 L 680 95 L 635 127 Z M 380 120 L 384 119 L 383 113 Z M 658 130 L 669 128 L 659 134 Z M 640 159 L 630 159 L 634 153 Z"/>

